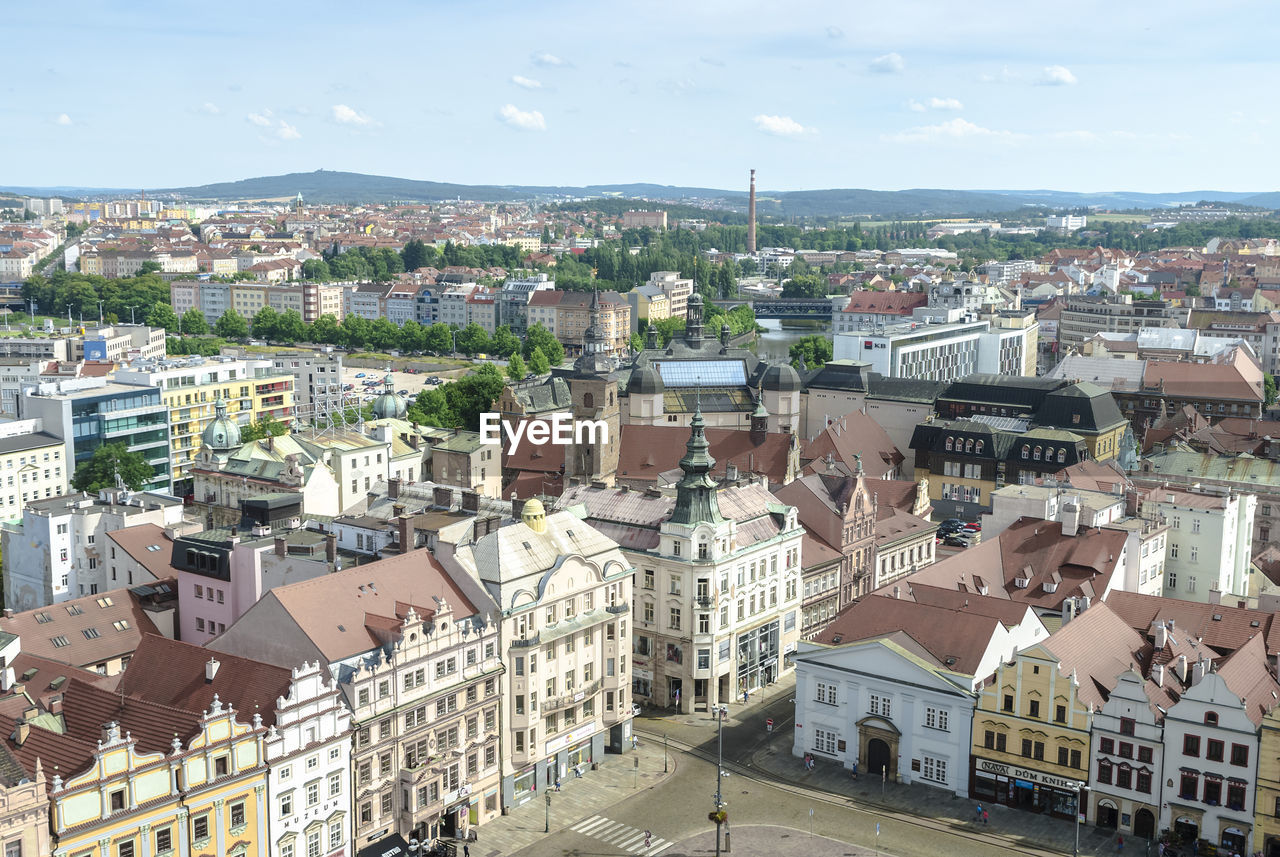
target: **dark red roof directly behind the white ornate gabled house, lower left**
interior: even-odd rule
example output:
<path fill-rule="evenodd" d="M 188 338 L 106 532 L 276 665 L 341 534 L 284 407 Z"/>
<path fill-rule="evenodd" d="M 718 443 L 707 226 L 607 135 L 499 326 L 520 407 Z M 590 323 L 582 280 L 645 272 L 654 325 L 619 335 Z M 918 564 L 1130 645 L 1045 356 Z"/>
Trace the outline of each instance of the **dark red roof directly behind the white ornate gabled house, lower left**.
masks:
<path fill-rule="evenodd" d="M 206 682 L 205 664 L 210 659 L 218 660 L 218 672 L 212 682 Z M 278 697 L 288 696 L 291 678 L 291 670 L 283 666 L 147 634 L 120 678 L 120 691 L 197 714 L 212 705 L 216 693 L 224 705 L 241 711 L 246 723 L 257 712 L 270 727 L 275 724 Z"/>

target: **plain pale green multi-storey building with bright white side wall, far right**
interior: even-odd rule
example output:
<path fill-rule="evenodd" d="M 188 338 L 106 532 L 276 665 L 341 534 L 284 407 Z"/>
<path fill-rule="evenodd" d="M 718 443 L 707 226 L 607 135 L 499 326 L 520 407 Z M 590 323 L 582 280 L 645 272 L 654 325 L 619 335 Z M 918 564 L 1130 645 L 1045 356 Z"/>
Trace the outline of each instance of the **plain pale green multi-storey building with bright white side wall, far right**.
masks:
<path fill-rule="evenodd" d="M 1201 494 L 1155 487 L 1143 515 L 1169 522 L 1164 595 L 1188 601 L 1234 602 L 1249 595 L 1254 494 Z"/>

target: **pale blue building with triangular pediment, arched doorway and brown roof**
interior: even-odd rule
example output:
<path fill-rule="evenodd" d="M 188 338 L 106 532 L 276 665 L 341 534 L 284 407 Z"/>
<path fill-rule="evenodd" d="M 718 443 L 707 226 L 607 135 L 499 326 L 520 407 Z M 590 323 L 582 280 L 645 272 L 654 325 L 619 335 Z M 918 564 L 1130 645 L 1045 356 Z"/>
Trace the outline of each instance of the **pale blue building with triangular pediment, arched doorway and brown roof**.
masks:
<path fill-rule="evenodd" d="M 792 755 L 968 797 L 975 691 L 1048 632 L 1028 605 L 979 595 L 964 604 L 870 596 L 801 642 Z"/>

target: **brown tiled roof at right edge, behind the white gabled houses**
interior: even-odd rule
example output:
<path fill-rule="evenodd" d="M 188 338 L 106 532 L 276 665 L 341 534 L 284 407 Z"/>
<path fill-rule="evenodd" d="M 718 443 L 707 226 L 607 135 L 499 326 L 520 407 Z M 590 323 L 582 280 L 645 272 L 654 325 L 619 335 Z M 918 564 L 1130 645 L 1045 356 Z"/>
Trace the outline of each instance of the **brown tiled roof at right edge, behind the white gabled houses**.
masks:
<path fill-rule="evenodd" d="M 1107 596 L 1107 604 L 1129 623 L 1130 628 L 1143 633 L 1157 620 L 1165 623 L 1172 620 L 1175 634 L 1194 636 L 1219 654 L 1228 654 L 1243 646 L 1253 634 L 1262 632 L 1267 654 L 1274 656 L 1280 652 L 1280 622 L 1276 622 L 1280 614 L 1276 613 L 1120 590 Z"/>

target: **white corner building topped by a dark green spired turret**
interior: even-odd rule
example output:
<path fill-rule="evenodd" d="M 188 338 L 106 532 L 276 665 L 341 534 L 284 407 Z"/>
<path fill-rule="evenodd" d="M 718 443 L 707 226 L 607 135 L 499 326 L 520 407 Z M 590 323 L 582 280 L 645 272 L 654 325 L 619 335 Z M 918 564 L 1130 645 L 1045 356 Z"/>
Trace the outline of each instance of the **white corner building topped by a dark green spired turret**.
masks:
<path fill-rule="evenodd" d="M 635 695 L 684 712 L 772 684 L 800 640 L 796 509 L 763 478 L 721 487 L 695 411 L 675 496 L 581 485 L 561 498 L 562 508 L 627 542 L 639 568 Z"/>

